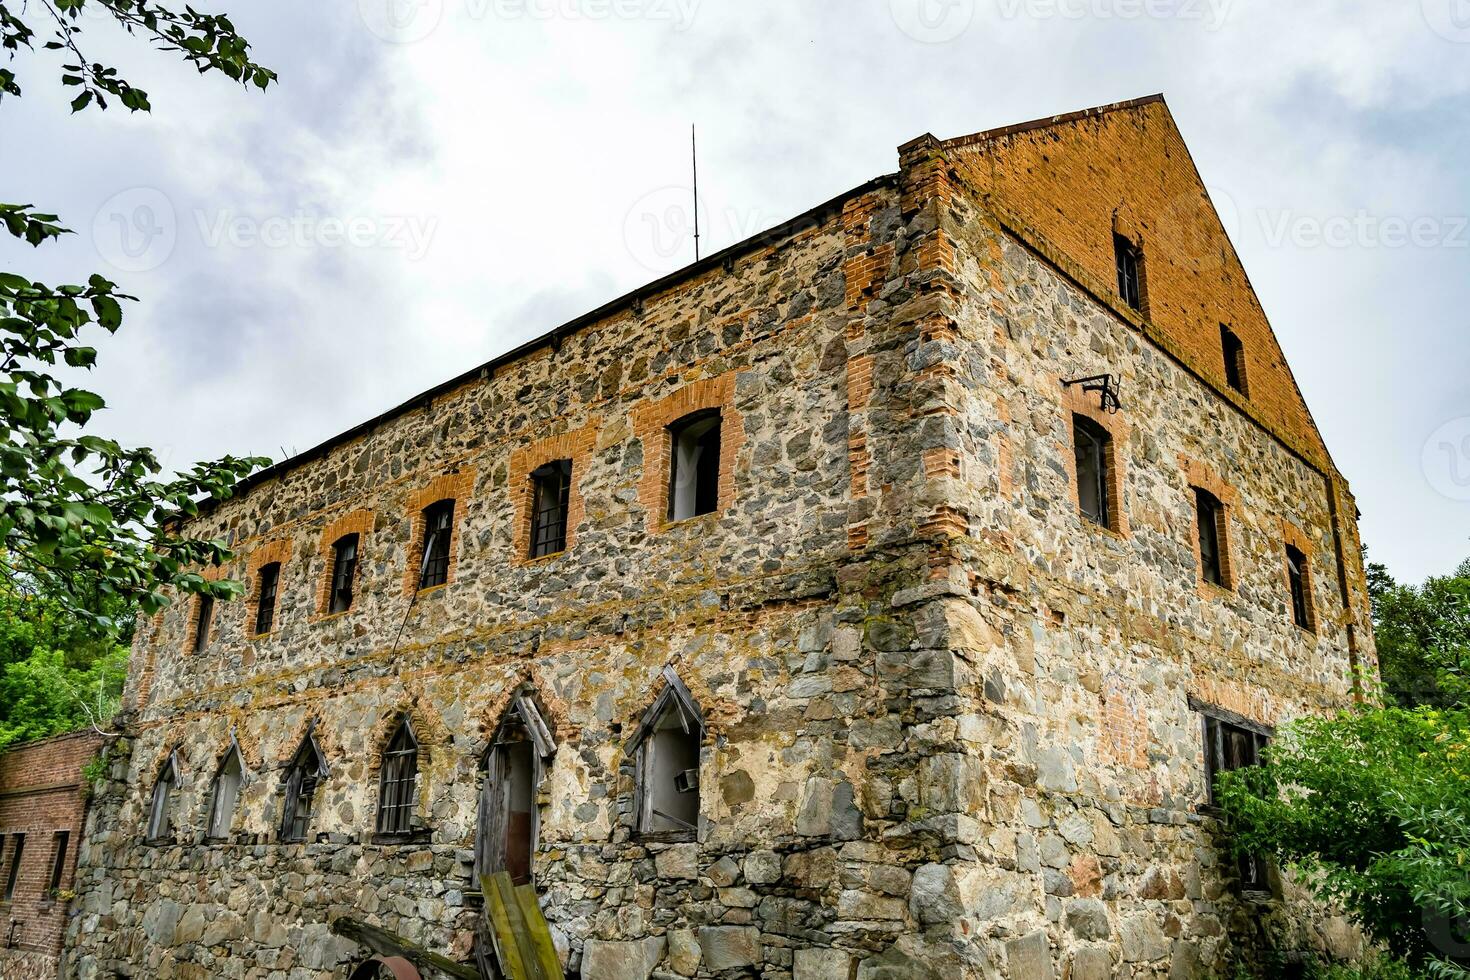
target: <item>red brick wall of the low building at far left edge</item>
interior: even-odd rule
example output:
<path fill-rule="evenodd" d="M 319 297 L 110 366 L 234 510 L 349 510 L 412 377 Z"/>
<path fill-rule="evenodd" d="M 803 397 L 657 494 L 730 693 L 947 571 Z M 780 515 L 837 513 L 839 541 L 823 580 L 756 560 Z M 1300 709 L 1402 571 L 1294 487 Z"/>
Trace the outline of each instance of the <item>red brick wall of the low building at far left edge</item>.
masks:
<path fill-rule="evenodd" d="M 15 835 L 25 835 L 15 898 L 0 902 L 0 977 L 40 980 L 56 976 L 54 958 L 62 949 L 87 813 L 81 770 L 103 742 L 94 732 L 78 732 L 0 752 L 0 835 L 4 837 L 0 889 L 15 860 Z M 69 837 L 60 896 L 53 898 L 49 887 L 57 830 L 66 830 Z M 13 946 L 6 942 L 12 927 Z M 49 973 L 21 973 L 22 961 L 26 968 L 44 964 Z"/>

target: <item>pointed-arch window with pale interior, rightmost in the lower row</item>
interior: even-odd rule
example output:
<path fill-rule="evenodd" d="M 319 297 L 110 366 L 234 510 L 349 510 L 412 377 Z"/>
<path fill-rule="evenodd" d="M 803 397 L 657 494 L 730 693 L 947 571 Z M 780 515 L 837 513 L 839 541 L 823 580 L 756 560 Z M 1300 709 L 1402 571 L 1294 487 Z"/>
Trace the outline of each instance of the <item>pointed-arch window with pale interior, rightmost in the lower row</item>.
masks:
<path fill-rule="evenodd" d="M 704 713 L 673 669 L 634 735 L 635 826 L 644 836 L 692 840 L 700 826 Z"/>

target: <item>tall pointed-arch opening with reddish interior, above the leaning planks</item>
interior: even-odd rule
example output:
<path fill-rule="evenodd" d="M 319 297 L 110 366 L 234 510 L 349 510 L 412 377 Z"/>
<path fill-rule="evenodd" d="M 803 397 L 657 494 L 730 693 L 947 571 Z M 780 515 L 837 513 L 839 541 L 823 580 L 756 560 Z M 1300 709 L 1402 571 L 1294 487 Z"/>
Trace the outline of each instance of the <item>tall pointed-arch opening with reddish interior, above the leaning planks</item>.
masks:
<path fill-rule="evenodd" d="M 551 726 L 531 691 L 510 701 L 485 751 L 475 829 L 475 880 L 506 871 L 514 884 L 532 880 L 539 830 L 537 792 L 556 755 Z"/>

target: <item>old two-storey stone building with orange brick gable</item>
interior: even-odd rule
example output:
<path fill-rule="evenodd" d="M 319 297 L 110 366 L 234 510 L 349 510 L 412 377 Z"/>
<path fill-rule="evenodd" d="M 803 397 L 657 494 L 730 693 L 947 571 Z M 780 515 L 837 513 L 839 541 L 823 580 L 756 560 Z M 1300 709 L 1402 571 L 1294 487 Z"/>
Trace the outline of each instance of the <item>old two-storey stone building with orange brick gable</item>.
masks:
<path fill-rule="evenodd" d="M 1208 805 L 1376 664 L 1158 97 L 920 137 L 194 530 L 250 598 L 138 630 L 81 977 L 341 979 L 343 917 L 470 964 L 476 867 L 588 980 L 1357 949 Z"/>

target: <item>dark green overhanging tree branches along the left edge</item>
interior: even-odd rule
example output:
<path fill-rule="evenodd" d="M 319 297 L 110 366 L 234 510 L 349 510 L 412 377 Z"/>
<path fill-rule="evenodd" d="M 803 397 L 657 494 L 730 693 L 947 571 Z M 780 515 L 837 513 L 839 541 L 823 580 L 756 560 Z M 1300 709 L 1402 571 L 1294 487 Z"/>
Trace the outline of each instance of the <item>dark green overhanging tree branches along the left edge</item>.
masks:
<path fill-rule="evenodd" d="M 275 81 L 275 72 L 250 60 L 248 44 L 223 15 L 147 0 L 0 0 L 0 47 L 9 53 L 0 101 L 22 93 L 18 56 L 38 59 L 49 50 L 60 56 L 60 84 L 78 93 L 74 113 L 113 101 L 134 112 L 151 107 L 148 94 L 116 68 L 82 54 L 84 10 L 103 15 L 85 21 L 87 29 L 110 22 L 201 73 L 218 71 L 257 88 Z M 31 245 L 69 234 L 56 215 L 29 204 L 0 204 L 0 222 Z M 157 610 L 169 589 L 240 594 L 237 582 L 198 574 L 229 552 L 220 541 L 179 533 L 179 519 L 197 514 L 200 501 L 228 497 L 268 463 L 225 457 L 166 476 L 151 450 L 84 430 L 103 400 L 59 375 L 96 363 L 87 335 L 116 332 L 131 298 L 100 275 L 56 287 L 0 275 L 0 576 L 10 594 L 47 597 L 113 632 L 135 608 Z"/>

